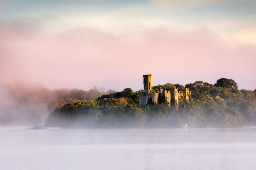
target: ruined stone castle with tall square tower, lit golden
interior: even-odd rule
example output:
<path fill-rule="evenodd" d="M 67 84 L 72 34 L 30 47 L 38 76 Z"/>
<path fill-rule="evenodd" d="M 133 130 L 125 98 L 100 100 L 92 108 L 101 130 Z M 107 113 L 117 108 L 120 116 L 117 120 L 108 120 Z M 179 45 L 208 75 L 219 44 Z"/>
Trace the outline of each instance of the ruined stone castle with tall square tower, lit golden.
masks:
<path fill-rule="evenodd" d="M 189 101 L 190 91 L 189 89 L 182 89 L 178 91 L 177 88 L 166 89 L 163 90 L 161 87 L 156 89 L 155 91 L 151 88 L 151 74 L 143 75 L 143 84 L 144 84 L 144 91 L 140 91 L 139 99 L 140 105 L 147 105 L 147 104 L 168 104 L 169 107 L 171 105 L 176 107 L 178 106 L 178 102 L 182 96 L 186 97 L 186 100 Z"/>

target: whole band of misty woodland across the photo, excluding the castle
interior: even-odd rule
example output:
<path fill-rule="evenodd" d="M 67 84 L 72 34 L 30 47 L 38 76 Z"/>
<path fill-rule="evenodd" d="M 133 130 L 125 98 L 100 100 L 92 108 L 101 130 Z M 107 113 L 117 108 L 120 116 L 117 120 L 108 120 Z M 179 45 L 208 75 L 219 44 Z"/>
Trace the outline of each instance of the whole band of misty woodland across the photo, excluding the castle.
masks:
<path fill-rule="evenodd" d="M 79 89 L 44 88 L 40 84 L 16 83 L 2 86 L 0 124 L 44 124 L 84 128 L 124 127 L 242 127 L 256 122 L 256 89 L 239 90 L 232 79 L 216 84 L 203 81 L 182 86 L 166 83 L 152 89 L 189 88 L 189 102 L 181 96 L 178 109 L 167 104 L 139 106 L 139 91 L 121 92 L 94 87 Z M 101 91 L 101 92 L 100 92 Z M 104 92 L 104 93 L 102 93 Z M 126 107 L 124 107 L 124 103 Z M 48 117 L 49 116 L 49 117 Z M 48 117 L 48 118 L 47 118 Z"/>

